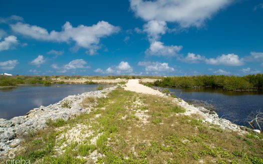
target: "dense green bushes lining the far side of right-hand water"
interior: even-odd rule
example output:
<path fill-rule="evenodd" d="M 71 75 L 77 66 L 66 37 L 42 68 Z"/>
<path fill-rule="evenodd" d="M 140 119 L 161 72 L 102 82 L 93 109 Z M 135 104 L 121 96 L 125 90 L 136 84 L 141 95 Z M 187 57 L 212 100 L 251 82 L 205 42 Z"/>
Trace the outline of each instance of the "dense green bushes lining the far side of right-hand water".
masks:
<path fill-rule="evenodd" d="M 199 75 L 163 77 L 153 83 L 157 86 L 168 87 L 201 87 L 223 88 L 225 90 L 262 89 L 263 74 L 246 76 Z"/>

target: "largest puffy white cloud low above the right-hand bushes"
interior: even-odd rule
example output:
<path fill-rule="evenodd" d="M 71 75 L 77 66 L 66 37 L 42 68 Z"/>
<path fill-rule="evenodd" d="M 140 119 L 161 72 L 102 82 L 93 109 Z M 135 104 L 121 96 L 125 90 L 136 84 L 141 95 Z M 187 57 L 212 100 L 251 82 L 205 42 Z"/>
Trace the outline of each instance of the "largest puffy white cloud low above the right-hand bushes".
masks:
<path fill-rule="evenodd" d="M 222 54 L 216 58 L 205 59 L 207 64 L 212 65 L 227 65 L 227 66 L 239 66 L 243 65 L 243 62 L 239 59 L 239 56 L 233 53 Z"/>

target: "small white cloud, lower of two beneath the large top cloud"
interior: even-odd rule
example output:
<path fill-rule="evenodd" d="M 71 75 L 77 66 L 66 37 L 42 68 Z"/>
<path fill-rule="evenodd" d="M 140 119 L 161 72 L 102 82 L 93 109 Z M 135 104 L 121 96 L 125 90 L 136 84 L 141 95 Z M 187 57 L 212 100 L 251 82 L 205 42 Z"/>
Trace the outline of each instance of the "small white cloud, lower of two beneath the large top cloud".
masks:
<path fill-rule="evenodd" d="M 164 43 L 161 41 L 153 41 L 150 47 L 145 51 L 145 53 L 156 56 L 176 56 L 181 49 L 181 45 L 167 46 L 164 45 Z"/>

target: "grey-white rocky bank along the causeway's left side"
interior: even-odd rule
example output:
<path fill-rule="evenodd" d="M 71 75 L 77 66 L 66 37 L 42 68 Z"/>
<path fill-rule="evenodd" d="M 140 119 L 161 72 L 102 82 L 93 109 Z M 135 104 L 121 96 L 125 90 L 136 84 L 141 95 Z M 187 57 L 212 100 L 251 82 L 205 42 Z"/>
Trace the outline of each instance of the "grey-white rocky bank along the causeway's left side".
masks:
<path fill-rule="evenodd" d="M 64 120 L 68 120 L 76 114 L 89 112 L 90 108 L 81 106 L 83 99 L 89 96 L 105 96 L 105 94 L 116 87 L 117 86 L 113 86 L 103 90 L 90 91 L 78 95 L 69 95 L 55 104 L 34 108 L 26 115 L 16 116 L 9 120 L 0 118 L 0 159 L 6 156 L 11 149 L 19 151 L 23 148 L 20 145 L 23 141 L 23 136 L 31 131 L 45 128 L 47 126 L 47 119 L 51 118 L 52 120 L 56 120 L 57 118 L 63 118 Z M 62 107 L 65 102 L 70 107 Z"/>

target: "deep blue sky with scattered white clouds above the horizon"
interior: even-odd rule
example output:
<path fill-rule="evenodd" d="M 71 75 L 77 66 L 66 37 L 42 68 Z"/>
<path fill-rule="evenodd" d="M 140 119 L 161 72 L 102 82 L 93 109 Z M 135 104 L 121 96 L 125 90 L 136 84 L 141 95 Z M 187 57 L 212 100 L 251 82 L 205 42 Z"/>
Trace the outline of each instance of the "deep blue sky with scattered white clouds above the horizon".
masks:
<path fill-rule="evenodd" d="M 0 73 L 262 73 L 262 29 L 262 0 L 1 1 Z"/>

